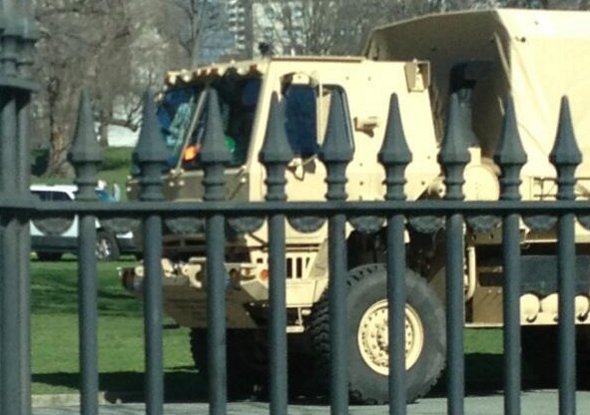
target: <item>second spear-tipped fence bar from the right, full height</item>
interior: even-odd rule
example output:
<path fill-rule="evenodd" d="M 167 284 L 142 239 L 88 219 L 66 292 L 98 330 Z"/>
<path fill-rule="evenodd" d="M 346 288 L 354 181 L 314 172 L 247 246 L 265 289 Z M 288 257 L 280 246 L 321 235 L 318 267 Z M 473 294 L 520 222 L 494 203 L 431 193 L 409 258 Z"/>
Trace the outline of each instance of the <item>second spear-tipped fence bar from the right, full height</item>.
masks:
<path fill-rule="evenodd" d="M 527 156 L 522 147 L 514 103 L 507 101 L 506 115 L 500 144 L 494 156 L 502 170 L 501 200 L 520 200 L 520 171 Z M 502 221 L 502 253 L 504 258 L 503 313 L 504 313 L 504 412 L 520 414 L 521 358 L 520 358 L 520 216 L 506 215 Z"/>

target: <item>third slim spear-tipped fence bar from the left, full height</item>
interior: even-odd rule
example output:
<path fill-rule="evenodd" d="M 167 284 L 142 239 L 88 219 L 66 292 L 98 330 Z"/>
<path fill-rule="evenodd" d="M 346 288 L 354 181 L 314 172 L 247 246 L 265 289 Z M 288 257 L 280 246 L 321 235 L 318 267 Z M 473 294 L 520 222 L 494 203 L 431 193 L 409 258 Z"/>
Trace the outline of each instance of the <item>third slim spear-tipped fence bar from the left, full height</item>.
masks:
<path fill-rule="evenodd" d="M 231 160 L 225 145 L 217 92 L 208 90 L 206 136 L 201 150 L 205 167 L 203 184 L 205 201 L 225 198 L 224 164 Z M 214 213 L 206 218 L 207 241 L 207 347 L 209 361 L 209 413 L 225 415 L 227 411 L 227 358 L 225 287 L 225 217 Z"/>

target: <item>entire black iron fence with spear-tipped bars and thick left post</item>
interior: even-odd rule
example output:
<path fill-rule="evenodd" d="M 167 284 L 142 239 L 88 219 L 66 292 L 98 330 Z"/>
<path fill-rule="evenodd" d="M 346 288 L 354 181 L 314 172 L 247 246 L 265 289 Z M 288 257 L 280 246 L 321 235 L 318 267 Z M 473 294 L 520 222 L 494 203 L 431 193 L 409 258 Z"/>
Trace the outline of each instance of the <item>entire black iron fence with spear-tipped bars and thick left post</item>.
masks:
<path fill-rule="evenodd" d="M 23 18 L 24 19 L 24 18 Z M 406 298 L 405 229 L 408 218 L 439 217 L 446 234 L 446 339 L 449 370 L 449 414 L 464 412 L 464 235 L 466 224 L 494 225 L 491 217 L 501 218 L 503 233 L 504 293 L 504 387 L 505 412 L 520 412 L 521 331 L 519 298 L 521 294 L 520 232 L 523 216 L 557 218 L 558 292 L 559 292 L 559 407 L 561 414 L 575 413 L 576 343 L 574 297 L 576 218 L 587 223 L 590 205 L 575 200 L 574 172 L 581 154 L 573 135 L 567 100 L 561 109 L 557 139 L 550 160 L 557 169 L 559 190 L 555 201 L 520 201 L 520 170 L 526 162 L 514 109 L 507 103 L 504 130 L 495 161 L 501 173 L 499 201 L 467 202 L 463 194 L 463 171 L 470 156 L 459 134 L 455 114 L 456 98 L 451 99 L 447 133 L 439 162 L 444 172 L 444 200 L 407 201 L 404 195 L 404 171 L 411 154 L 401 126 L 397 100 L 392 97 L 386 136 L 378 161 L 386 172 L 383 201 L 347 201 L 346 168 L 353 156 L 346 125 L 346 100 L 335 94 L 329 125 L 320 159 L 327 169 L 326 200 L 289 202 L 285 194 L 285 170 L 291 150 L 277 105 L 271 108 L 265 144 L 260 162 L 267 171 L 265 201 L 232 202 L 225 197 L 224 164 L 229 161 L 224 144 L 221 116 L 214 91 L 210 91 L 207 137 L 201 161 L 204 165 L 205 196 L 202 202 L 170 203 L 162 195 L 162 165 L 167 151 L 159 134 L 153 98 L 146 96 L 143 126 L 135 156 L 140 167 L 139 201 L 105 204 L 96 200 L 97 171 L 101 150 L 93 128 L 89 98 L 82 95 L 79 118 L 70 153 L 76 168 L 78 201 L 41 203 L 32 198 L 29 186 L 27 140 L 31 36 L 26 24 L 9 27 L 5 20 L 1 38 L 0 64 L 0 412 L 7 415 L 31 412 L 30 397 L 30 280 L 29 227 L 36 218 L 79 215 L 79 304 L 81 413 L 98 413 L 97 365 L 97 268 L 96 227 L 99 218 L 140 218 L 143 228 L 145 265 L 145 360 L 146 411 L 162 414 L 163 342 L 162 342 L 162 221 L 165 218 L 197 217 L 206 222 L 206 273 L 208 297 L 209 403 L 211 414 L 225 414 L 227 405 L 226 367 L 226 270 L 224 267 L 225 223 L 229 218 L 258 217 L 269 224 L 269 376 L 270 412 L 288 410 L 287 316 L 285 295 L 285 219 L 295 216 L 326 218 L 329 226 L 329 321 L 330 321 L 330 405 L 333 414 L 348 413 L 348 350 L 346 274 L 346 223 L 352 218 L 386 219 L 387 299 L 389 304 L 389 377 L 392 414 L 406 412 L 406 371 L 404 355 Z M 15 20 L 20 21 L 20 20 Z M 24 20 L 22 20 L 24 21 Z M 22 23 L 22 22 L 21 22 Z M 15 29 L 15 30 L 12 30 Z M 276 104 L 276 98 L 274 102 Z M 357 149 L 357 151 L 360 151 Z"/>

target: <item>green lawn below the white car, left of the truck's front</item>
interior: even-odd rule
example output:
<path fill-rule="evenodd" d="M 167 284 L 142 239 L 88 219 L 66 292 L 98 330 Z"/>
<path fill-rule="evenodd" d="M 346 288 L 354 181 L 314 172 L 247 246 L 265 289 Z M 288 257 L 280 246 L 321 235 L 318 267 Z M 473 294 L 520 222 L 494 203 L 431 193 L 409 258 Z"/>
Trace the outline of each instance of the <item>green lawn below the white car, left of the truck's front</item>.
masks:
<path fill-rule="evenodd" d="M 120 287 L 117 266 L 99 264 L 99 369 L 101 390 L 143 390 L 142 303 Z M 32 372 L 34 394 L 72 393 L 79 389 L 76 262 L 32 261 Z M 192 370 L 188 329 L 166 320 L 164 363 L 171 380 L 198 382 Z"/>

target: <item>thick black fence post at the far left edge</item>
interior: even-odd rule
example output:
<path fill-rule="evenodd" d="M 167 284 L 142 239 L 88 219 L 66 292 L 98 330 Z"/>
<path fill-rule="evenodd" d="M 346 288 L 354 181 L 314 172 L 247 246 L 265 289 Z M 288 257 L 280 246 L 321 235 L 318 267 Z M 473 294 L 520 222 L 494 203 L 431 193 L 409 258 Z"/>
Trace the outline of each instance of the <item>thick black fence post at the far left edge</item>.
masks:
<path fill-rule="evenodd" d="M 28 10 L 14 0 L 4 1 L 0 14 L 0 193 L 28 199 L 30 163 L 28 139 L 30 74 L 19 71 L 21 42 L 27 31 Z M 34 27 L 31 25 L 30 27 Z M 26 35 L 30 43 L 33 35 Z M 30 62 L 30 60 L 29 60 Z M 0 413 L 30 413 L 30 230 L 28 212 L 5 210 L 0 223 Z"/>

